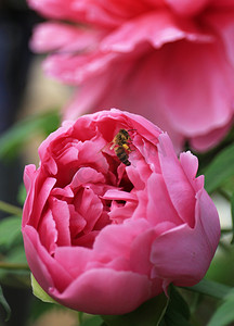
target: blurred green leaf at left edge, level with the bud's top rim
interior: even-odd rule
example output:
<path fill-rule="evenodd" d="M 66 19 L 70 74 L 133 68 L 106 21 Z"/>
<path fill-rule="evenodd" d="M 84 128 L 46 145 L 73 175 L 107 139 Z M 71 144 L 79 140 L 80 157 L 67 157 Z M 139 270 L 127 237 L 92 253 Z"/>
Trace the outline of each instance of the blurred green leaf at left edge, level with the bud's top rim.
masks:
<path fill-rule="evenodd" d="M 58 111 L 39 113 L 20 121 L 0 137 L 0 159 L 14 158 L 21 147 L 31 139 L 32 135 L 43 134 L 48 136 L 58 125 Z"/>

